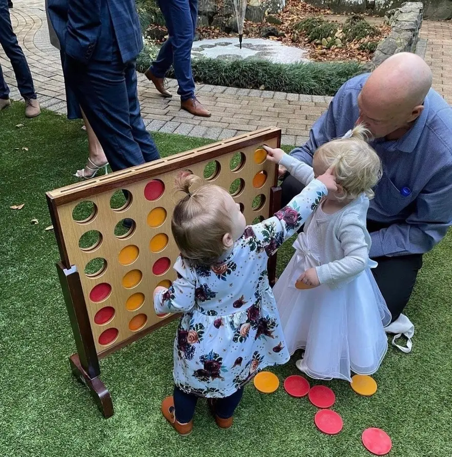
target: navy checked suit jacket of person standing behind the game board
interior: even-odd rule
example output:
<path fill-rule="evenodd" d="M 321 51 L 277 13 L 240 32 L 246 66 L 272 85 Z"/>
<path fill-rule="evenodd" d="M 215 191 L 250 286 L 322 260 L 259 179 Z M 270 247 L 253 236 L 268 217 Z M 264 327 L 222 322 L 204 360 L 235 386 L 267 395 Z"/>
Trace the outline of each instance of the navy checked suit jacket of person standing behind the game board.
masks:
<path fill-rule="evenodd" d="M 134 0 L 48 0 L 48 15 L 61 48 L 73 59 L 126 63 L 143 47 Z"/>

